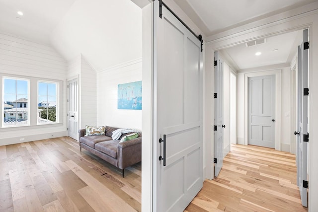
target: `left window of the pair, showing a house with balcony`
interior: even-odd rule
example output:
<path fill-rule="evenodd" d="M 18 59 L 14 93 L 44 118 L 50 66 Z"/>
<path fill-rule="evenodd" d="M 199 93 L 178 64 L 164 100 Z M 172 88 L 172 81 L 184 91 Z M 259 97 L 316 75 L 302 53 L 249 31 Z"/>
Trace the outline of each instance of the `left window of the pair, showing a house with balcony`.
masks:
<path fill-rule="evenodd" d="M 3 78 L 3 127 L 29 125 L 29 110 L 22 108 L 28 103 L 29 80 Z"/>

